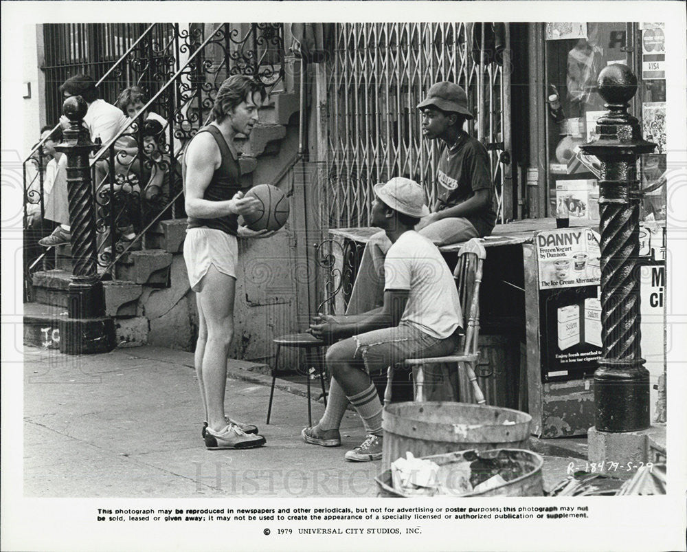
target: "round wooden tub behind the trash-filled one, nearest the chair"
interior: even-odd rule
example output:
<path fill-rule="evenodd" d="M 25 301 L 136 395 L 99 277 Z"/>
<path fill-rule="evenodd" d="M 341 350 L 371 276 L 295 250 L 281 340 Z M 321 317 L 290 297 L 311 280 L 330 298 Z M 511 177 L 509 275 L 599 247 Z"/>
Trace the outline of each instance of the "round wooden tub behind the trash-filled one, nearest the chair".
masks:
<path fill-rule="evenodd" d="M 460 450 L 528 449 L 532 417 L 525 412 L 455 402 L 392 403 L 384 408 L 382 470 L 413 456 Z"/>

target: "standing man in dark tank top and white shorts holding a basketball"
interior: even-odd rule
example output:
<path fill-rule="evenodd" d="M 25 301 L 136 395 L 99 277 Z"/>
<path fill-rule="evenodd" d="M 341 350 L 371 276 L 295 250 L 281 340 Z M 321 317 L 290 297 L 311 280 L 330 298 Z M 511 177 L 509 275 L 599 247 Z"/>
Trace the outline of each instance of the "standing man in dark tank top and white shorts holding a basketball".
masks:
<path fill-rule="evenodd" d="M 196 133 L 182 163 L 188 214 L 183 258 L 198 305 L 194 362 L 205 411 L 202 435 L 210 450 L 255 448 L 265 443 L 256 426 L 226 417 L 224 406 L 227 355 L 234 336 L 236 238 L 274 233 L 238 224 L 238 216 L 254 212 L 260 201 L 243 197 L 234 138 L 251 133 L 264 97 L 264 90 L 252 78 L 227 78 L 217 92 L 213 122 Z"/>

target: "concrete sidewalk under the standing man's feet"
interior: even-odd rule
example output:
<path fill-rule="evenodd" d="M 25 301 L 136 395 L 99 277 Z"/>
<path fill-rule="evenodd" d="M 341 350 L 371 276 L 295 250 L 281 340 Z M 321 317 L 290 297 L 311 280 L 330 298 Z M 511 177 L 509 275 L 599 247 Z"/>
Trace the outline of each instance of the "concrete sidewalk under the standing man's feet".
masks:
<path fill-rule="evenodd" d="M 267 445 L 209 451 L 192 353 L 143 346 L 74 357 L 25 347 L 24 359 L 25 496 L 376 495 L 380 463 L 343 459 L 365 438 L 358 416 L 346 412 L 340 448 L 308 445 L 305 386 L 278 379 L 266 426 L 271 378 L 238 369 L 249 363 L 229 361 L 227 414 L 256 423 Z M 319 419 L 324 404 L 312 408 Z M 545 456 L 545 488 L 571 462 L 583 463 Z"/>

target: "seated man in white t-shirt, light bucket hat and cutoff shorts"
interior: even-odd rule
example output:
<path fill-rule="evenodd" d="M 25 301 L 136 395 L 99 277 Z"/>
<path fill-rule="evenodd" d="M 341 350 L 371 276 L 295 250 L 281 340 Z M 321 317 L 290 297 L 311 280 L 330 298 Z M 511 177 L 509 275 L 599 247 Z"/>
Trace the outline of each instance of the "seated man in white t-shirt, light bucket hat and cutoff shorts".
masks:
<path fill-rule="evenodd" d="M 392 244 L 384 259 L 382 307 L 357 316 L 318 315 L 313 335 L 335 342 L 327 351 L 332 375 L 324 416 L 304 428 L 306 443 L 341 445 L 339 426 L 348 403 L 363 420 L 367 437 L 346 452 L 350 461 L 379 460 L 382 456 L 382 404 L 371 375 L 407 358 L 450 354 L 458 344 L 462 313 L 458 291 L 438 247 L 414 229 L 429 210 L 416 182 L 396 177 L 374 186 L 372 225 Z"/>

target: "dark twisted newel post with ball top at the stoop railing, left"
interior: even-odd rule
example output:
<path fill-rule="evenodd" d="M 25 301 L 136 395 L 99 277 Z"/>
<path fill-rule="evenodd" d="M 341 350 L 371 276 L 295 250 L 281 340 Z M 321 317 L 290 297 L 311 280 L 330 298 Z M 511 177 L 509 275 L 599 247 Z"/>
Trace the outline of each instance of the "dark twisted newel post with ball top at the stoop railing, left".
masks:
<path fill-rule="evenodd" d="M 88 106 L 81 96 L 65 100 L 70 127 L 56 147 L 67 155 L 67 190 L 71 225 L 72 276 L 69 318 L 60 320 L 60 352 L 70 355 L 105 353 L 115 347 L 115 325 L 105 316 L 102 282 L 96 269 L 95 205 L 89 153 L 95 149 L 83 118 Z"/>

